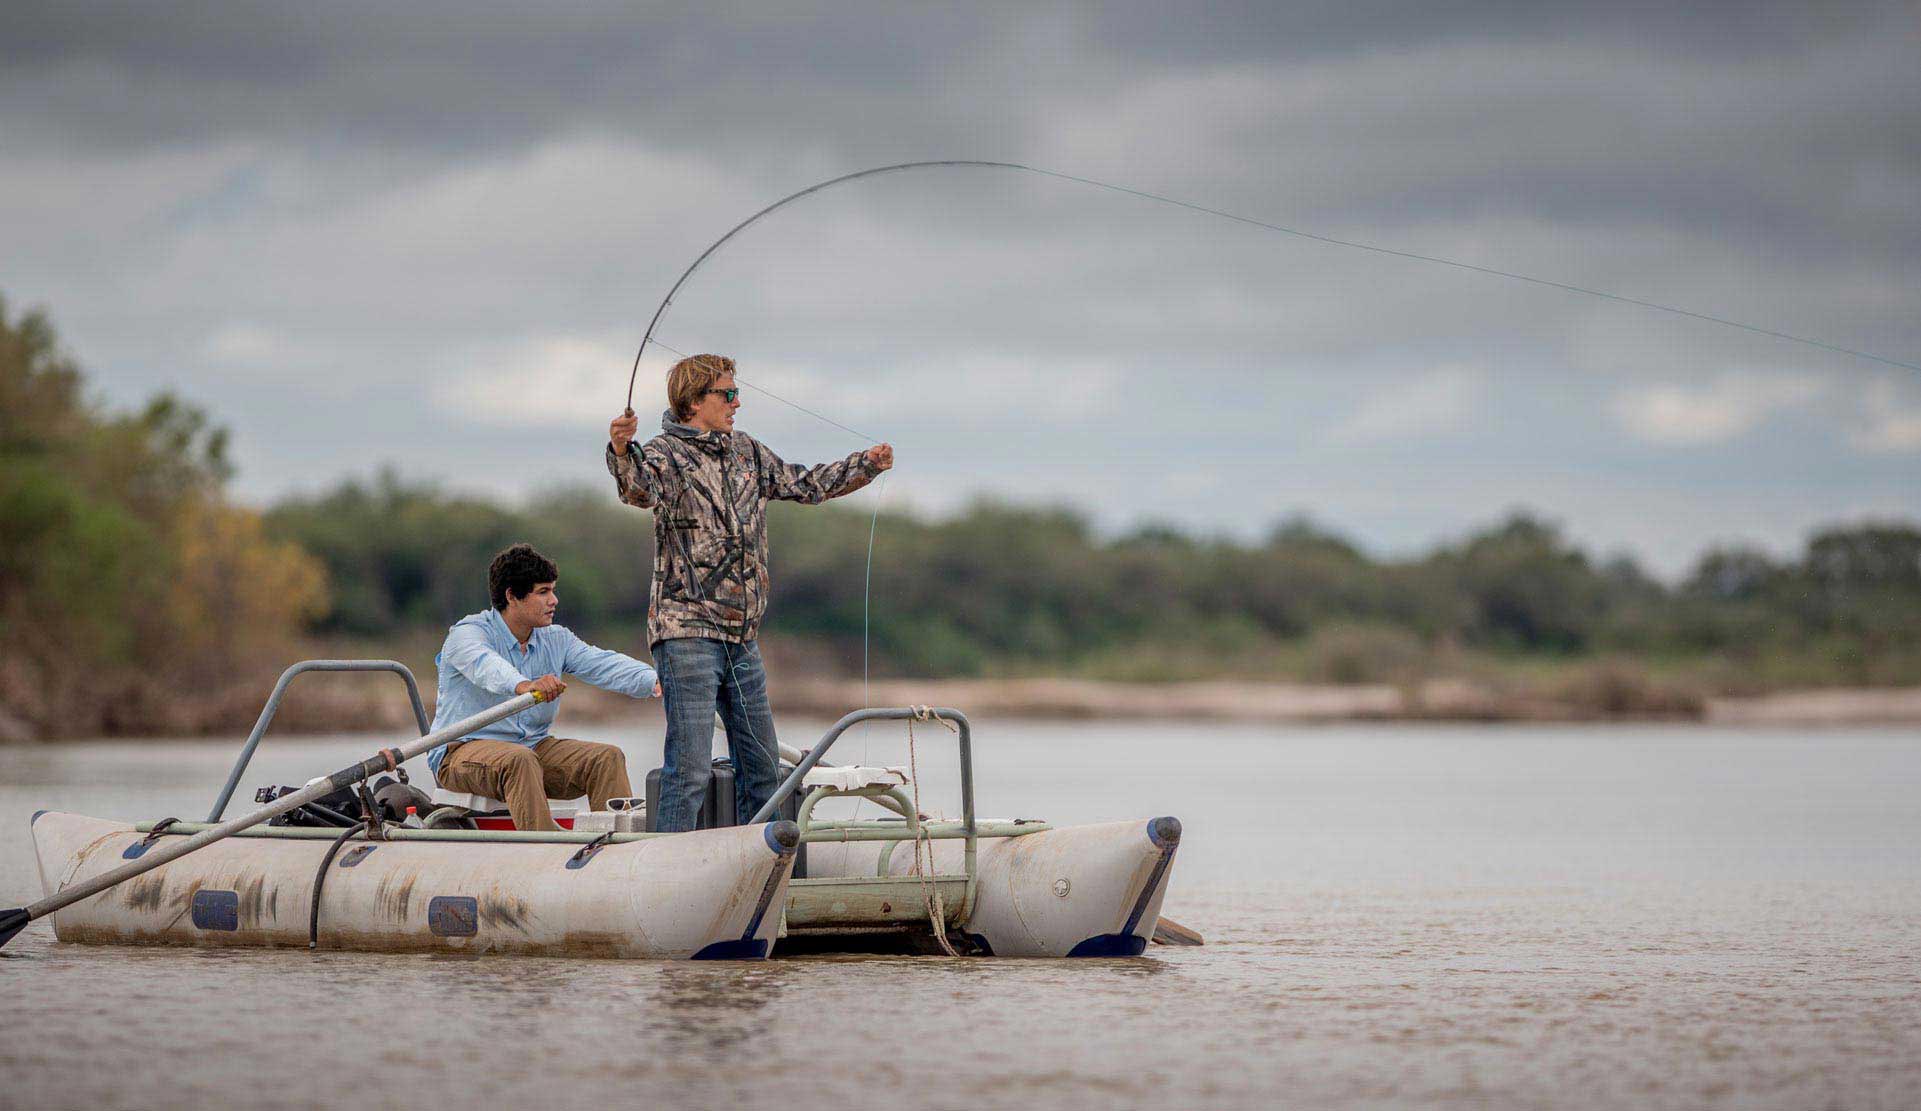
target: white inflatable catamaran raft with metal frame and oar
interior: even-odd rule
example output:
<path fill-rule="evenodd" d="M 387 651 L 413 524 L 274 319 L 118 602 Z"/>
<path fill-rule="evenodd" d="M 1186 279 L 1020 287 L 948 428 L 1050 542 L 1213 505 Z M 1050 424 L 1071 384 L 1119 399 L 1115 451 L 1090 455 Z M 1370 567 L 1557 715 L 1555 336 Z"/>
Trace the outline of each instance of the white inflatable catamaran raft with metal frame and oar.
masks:
<path fill-rule="evenodd" d="M 221 821 L 288 682 L 305 671 L 398 673 L 423 736 Z M 632 813 L 578 815 L 576 828 L 561 832 L 265 825 L 532 704 L 534 696 L 521 696 L 426 732 L 403 665 L 294 665 L 206 823 L 35 815 L 46 898 L 0 913 L 0 942 L 38 917 L 52 917 L 56 938 L 79 944 L 692 959 L 759 959 L 776 944 L 784 951 L 1114 957 L 1141 953 L 1156 934 L 1179 823 L 1053 828 L 978 819 L 972 730 L 955 709 L 861 709 L 805 753 L 782 746 L 791 769 L 745 825 L 661 834 Z M 943 725 L 922 732 L 959 742 L 962 817 L 926 821 L 905 769 L 824 763 L 834 742 L 863 721 Z M 889 813 L 816 819 L 816 805 L 830 798 L 872 800 Z M 463 817 L 450 807 L 430 825 L 473 825 Z M 795 878 L 803 846 L 805 876 Z"/>

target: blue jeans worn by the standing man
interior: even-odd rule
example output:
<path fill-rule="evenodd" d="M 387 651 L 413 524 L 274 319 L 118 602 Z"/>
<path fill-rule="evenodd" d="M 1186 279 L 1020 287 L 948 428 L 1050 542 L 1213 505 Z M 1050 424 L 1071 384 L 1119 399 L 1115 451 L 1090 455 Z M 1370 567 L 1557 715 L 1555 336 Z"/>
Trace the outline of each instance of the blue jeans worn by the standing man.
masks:
<path fill-rule="evenodd" d="M 661 813 L 653 815 L 653 828 L 686 832 L 699 819 L 713 767 L 717 709 L 734 759 L 734 813 L 747 821 L 780 786 L 780 746 L 766 705 L 761 646 L 676 636 L 653 646 L 653 665 L 667 704 Z"/>

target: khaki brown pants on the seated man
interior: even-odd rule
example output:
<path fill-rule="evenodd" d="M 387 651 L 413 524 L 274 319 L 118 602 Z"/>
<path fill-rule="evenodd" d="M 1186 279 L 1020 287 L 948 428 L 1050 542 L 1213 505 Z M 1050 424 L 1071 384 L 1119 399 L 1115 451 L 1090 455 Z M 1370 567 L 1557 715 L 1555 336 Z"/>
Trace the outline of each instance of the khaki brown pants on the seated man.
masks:
<path fill-rule="evenodd" d="M 448 790 L 484 794 L 507 803 L 513 825 L 555 830 L 549 798 L 588 796 L 594 809 L 609 798 L 628 798 L 626 755 L 611 744 L 549 736 L 534 748 L 505 740 L 463 740 L 448 746 L 434 777 Z"/>

